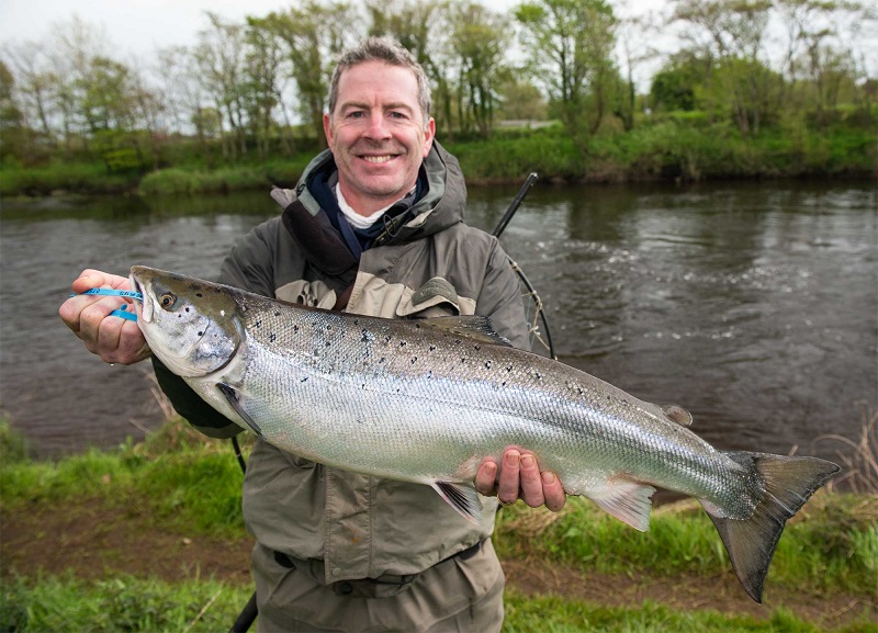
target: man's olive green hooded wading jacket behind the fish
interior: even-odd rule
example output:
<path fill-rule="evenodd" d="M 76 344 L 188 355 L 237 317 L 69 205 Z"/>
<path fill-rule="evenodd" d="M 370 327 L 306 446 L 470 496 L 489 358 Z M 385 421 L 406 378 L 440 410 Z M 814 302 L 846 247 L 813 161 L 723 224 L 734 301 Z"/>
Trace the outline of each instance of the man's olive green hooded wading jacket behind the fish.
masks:
<path fill-rule="evenodd" d="M 527 347 L 518 279 L 496 238 L 463 224 L 466 190 L 454 157 L 434 146 L 419 200 L 362 252 L 359 265 L 349 250 L 338 250 L 339 231 L 312 194 L 315 174 L 334 172 L 324 151 L 295 192 L 274 190 L 284 214 L 236 245 L 219 281 L 326 308 L 347 290 L 345 309 L 371 316 L 489 316 L 497 332 Z M 295 197 L 301 204 L 288 205 Z M 195 428 L 219 438 L 241 431 L 154 363 L 162 389 Z M 245 521 L 256 540 L 294 558 L 324 561 L 327 584 L 417 574 L 474 545 L 494 528 L 496 499 L 483 504 L 485 519 L 473 525 L 428 486 L 325 467 L 259 440 L 244 481 Z"/>

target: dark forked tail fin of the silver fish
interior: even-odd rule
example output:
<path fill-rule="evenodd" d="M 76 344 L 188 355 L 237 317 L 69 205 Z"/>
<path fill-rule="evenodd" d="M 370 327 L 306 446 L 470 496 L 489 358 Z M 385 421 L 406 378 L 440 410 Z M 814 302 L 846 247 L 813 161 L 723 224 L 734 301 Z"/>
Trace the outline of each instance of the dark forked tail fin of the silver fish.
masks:
<path fill-rule="evenodd" d="M 720 533 L 732 568 L 744 589 L 762 603 L 765 576 L 787 519 L 841 468 L 817 457 L 746 452 L 727 454 L 747 470 L 755 468 L 765 494 L 750 519 L 723 519 L 712 515 L 709 505 L 705 509 Z"/>

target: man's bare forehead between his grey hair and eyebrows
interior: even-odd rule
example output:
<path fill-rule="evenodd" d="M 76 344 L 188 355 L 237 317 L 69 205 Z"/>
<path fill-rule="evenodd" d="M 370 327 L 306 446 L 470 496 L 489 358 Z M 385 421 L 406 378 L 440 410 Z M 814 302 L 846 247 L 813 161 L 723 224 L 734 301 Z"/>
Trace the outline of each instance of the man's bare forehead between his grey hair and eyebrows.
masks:
<path fill-rule="evenodd" d="M 420 112 L 415 71 L 385 61 L 363 61 L 344 70 L 338 78 L 338 103 L 399 104 Z"/>

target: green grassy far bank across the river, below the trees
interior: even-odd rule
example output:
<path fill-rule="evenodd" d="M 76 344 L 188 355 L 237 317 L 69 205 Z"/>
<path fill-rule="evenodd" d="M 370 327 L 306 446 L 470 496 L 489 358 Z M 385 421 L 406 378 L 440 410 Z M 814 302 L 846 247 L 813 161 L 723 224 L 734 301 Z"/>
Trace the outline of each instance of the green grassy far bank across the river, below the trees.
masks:
<path fill-rule="evenodd" d="M 697 113 L 696 113 L 697 114 Z M 699 181 L 723 178 L 854 177 L 878 174 L 875 129 L 838 122 L 821 131 L 804 126 L 766 128 L 743 138 L 729 124 L 707 123 L 691 113 L 653 117 L 630 132 L 601 133 L 585 152 L 560 125 L 539 129 L 496 131 L 488 140 L 439 139 L 461 161 L 473 184 L 520 182 L 536 171 L 545 181 L 630 182 Z M 292 185 L 314 156 L 271 156 L 257 161 L 214 162 L 207 167 L 191 142 L 177 140 L 160 168 L 110 173 L 100 156 L 70 154 L 43 165 L 4 163 L 0 195 L 48 195 L 57 192 L 196 194 Z"/>

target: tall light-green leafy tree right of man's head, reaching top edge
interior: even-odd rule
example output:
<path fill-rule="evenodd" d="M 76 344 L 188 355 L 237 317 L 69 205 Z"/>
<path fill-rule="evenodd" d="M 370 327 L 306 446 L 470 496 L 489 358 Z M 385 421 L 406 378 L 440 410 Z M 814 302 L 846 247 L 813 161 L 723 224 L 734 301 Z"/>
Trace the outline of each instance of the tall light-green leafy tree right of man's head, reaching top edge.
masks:
<path fill-rule="evenodd" d="M 587 154 L 610 98 L 612 8 L 604 0 L 538 0 L 520 4 L 515 18 L 534 79 L 555 102 L 577 149 Z"/>

